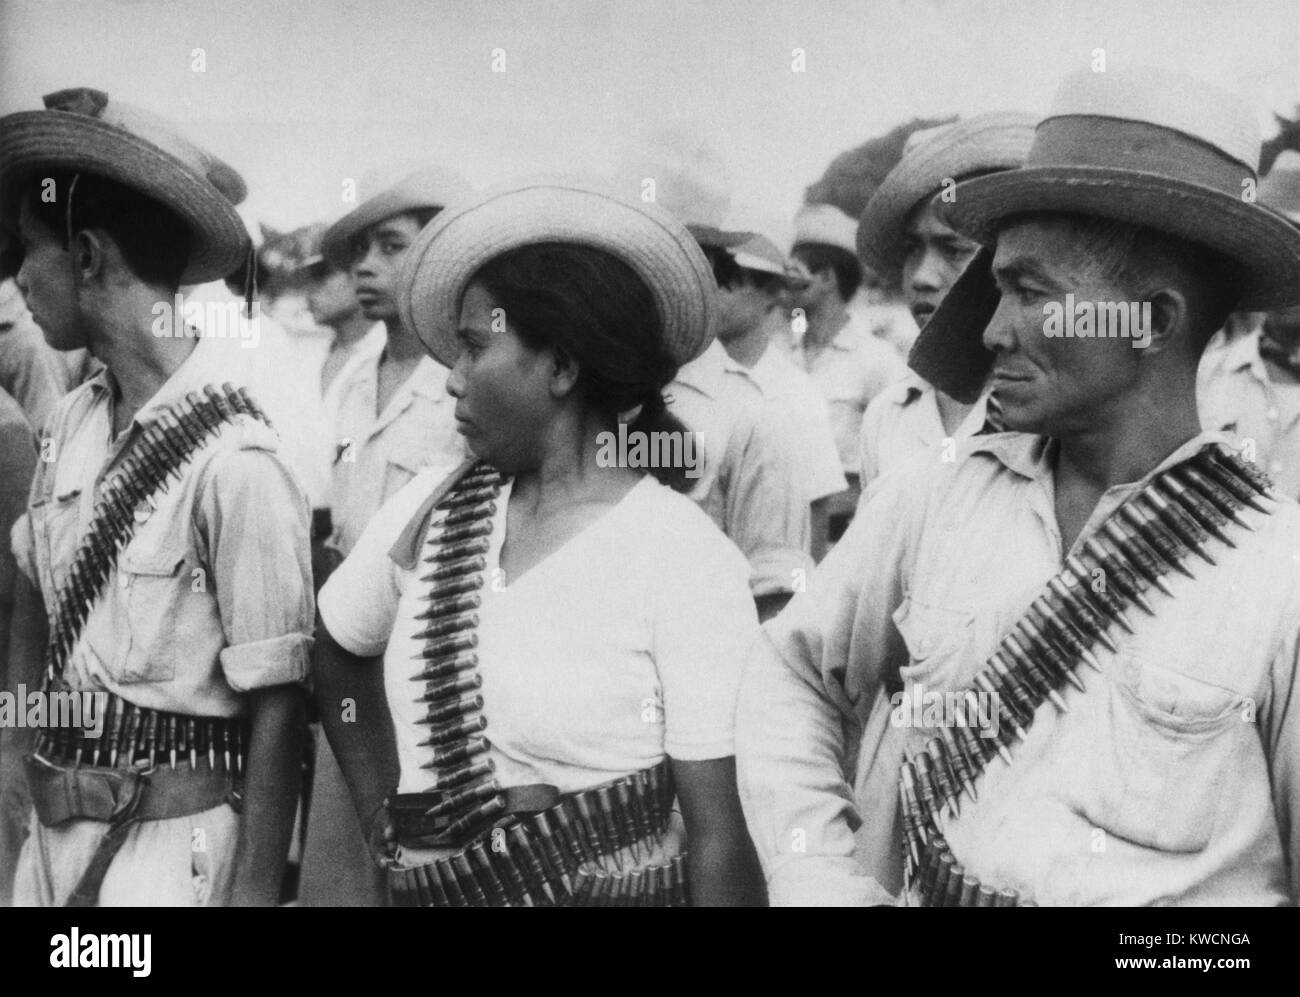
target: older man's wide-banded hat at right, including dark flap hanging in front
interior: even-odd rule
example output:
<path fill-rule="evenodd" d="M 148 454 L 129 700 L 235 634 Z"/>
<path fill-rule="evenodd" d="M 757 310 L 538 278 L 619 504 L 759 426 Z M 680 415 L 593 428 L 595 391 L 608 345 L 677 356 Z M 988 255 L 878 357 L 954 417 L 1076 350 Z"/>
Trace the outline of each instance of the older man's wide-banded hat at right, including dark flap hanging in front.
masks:
<path fill-rule="evenodd" d="M 1242 265 L 1238 308 L 1300 300 L 1300 229 L 1256 203 L 1260 133 L 1240 97 L 1162 69 L 1084 70 L 1057 91 L 1019 169 L 958 183 L 940 216 L 992 246 L 1026 212 L 1112 218 L 1209 247 Z M 913 346 L 907 363 L 958 400 L 974 400 L 993 355 L 980 343 L 997 308 L 975 256 Z"/>

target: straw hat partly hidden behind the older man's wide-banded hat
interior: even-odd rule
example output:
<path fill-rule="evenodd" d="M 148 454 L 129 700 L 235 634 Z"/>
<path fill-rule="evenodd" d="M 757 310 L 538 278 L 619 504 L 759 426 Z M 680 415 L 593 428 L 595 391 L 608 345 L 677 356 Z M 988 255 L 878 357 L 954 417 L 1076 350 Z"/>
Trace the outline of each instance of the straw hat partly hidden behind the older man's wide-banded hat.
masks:
<path fill-rule="evenodd" d="M 913 209 L 939 194 L 945 182 L 1019 166 L 1034 140 L 1035 122 L 1020 110 L 996 110 L 913 134 L 858 220 L 862 261 L 876 273 L 897 276 Z"/>

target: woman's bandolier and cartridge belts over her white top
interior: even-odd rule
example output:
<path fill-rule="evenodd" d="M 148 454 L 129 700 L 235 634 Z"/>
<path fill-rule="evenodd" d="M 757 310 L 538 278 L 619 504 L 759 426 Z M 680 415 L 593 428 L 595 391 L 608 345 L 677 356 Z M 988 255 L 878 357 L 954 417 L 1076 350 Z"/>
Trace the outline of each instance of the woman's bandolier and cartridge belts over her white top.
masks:
<path fill-rule="evenodd" d="M 394 809 L 398 838 L 459 850 L 391 874 L 398 906 L 686 906 L 685 857 L 641 867 L 641 846 L 662 838 L 673 801 L 667 762 L 562 797 L 541 812 L 507 815 L 506 792 L 488 753 L 480 694 L 478 625 L 493 516 L 504 478 L 472 467 L 437 503 L 424 558 L 428 606 L 420 612 L 416 655 L 424 684 L 417 702 L 430 749 L 434 805 Z M 442 515 L 438 515 L 438 513 Z M 460 848 L 463 842 L 469 842 Z M 624 871 L 620 855 L 638 868 Z"/>

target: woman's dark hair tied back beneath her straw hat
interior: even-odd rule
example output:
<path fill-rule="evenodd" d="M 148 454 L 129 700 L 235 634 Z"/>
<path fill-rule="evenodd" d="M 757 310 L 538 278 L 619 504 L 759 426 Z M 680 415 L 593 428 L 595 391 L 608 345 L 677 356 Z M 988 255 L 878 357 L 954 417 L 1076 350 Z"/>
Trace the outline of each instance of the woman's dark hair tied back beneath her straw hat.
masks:
<path fill-rule="evenodd" d="M 619 412 L 641 406 L 629 432 L 686 432 L 663 396 L 677 361 L 654 295 L 623 260 L 586 246 L 536 243 L 494 257 L 473 282 L 506 309 L 524 343 L 577 364 L 582 399 L 608 426 Z M 649 471 L 677 491 L 689 489 L 684 467 Z"/>

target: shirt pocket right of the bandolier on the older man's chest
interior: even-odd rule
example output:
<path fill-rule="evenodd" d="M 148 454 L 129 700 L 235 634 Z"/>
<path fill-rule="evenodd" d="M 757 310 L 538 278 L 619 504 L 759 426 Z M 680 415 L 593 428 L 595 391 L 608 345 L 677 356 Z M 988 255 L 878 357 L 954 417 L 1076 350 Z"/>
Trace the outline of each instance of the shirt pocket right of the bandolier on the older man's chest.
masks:
<path fill-rule="evenodd" d="M 1204 850 L 1245 777 L 1247 699 L 1139 655 L 1122 659 L 1109 689 L 1086 816 L 1156 851 Z"/>

